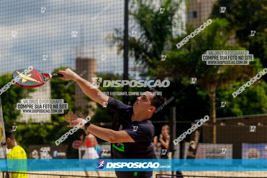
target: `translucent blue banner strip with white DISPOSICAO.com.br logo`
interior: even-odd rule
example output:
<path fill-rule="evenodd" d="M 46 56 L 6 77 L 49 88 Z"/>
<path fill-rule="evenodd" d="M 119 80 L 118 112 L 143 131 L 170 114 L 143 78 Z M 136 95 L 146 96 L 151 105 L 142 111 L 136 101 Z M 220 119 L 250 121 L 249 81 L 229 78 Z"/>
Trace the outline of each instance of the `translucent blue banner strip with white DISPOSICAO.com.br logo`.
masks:
<path fill-rule="evenodd" d="M 266 168 L 265 159 L 0 159 L 0 171 L 266 171 Z"/>

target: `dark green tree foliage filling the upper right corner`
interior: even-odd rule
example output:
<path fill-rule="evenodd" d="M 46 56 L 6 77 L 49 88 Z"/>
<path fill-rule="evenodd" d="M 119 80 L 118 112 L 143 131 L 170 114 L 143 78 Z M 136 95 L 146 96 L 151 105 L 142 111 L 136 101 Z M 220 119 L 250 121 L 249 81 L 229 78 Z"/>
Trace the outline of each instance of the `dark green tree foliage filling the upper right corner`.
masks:
<path fill-rule="evenodd" d="M 226 6 L 227 13 L 218 15 L 219 6 Z M 260 58 L 264 66 L 267 64 L 267 0 L 218 0 L 211 15 L 226 18 L 226 29 L 233 30 L 236 43 Z M 254 36 L 250 36 L 252 30 L 256 31 Z"/>

